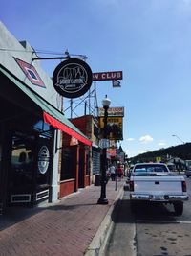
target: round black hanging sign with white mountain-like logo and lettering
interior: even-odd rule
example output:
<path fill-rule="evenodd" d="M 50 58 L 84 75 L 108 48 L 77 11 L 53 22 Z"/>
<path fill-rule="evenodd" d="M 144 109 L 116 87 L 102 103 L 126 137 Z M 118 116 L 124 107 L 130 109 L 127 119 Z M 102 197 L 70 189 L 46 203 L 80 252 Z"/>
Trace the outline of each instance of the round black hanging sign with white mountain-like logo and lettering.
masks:
<path fill-rule="evenodd" d="M 77 98 L 91 87 L 93 74 L 90 66 L 81 59 L 69 58 L 53 71 L 53 86 L 66 98 Z"/>

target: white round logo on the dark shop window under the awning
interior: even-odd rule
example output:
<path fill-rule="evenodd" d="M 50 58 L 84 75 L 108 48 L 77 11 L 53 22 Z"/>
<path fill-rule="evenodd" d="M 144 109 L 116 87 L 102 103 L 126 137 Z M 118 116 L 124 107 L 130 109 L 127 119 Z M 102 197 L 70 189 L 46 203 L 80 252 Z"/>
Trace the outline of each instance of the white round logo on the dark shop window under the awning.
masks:
<path fill-rule="evenodd" d="M 50 153 L 47 146 L 42 146 L 38 152 L 38 171 L 44 175 L 49 168 Z"/>

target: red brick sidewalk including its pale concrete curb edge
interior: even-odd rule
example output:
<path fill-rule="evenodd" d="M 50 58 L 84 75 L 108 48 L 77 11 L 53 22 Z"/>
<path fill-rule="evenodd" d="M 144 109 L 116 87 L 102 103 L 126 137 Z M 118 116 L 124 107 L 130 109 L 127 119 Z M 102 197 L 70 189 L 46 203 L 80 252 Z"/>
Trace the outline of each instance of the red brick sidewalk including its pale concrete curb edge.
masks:
<path fill-rule="evenodd" d="M 37 208 L 11 208 L 0 216 L 0 255 L 98 255 L 111 231 L 112 212 L 124 181 L 106 186 L 107 205 L 97 204 L 100 186 L 91 185 L 57 203 Z"/>

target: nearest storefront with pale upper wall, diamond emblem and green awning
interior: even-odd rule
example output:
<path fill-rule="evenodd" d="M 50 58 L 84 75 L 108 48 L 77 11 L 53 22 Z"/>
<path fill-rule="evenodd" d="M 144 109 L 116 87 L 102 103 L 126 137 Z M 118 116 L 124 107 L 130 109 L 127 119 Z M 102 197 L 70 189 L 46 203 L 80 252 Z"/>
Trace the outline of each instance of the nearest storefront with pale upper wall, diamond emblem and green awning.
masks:
<path fill-rule="evenodd" d="M 61 113 L 32 47 L 0 23 L 0 209 L 59 197 L 61 134 L 91 141 Z"/>

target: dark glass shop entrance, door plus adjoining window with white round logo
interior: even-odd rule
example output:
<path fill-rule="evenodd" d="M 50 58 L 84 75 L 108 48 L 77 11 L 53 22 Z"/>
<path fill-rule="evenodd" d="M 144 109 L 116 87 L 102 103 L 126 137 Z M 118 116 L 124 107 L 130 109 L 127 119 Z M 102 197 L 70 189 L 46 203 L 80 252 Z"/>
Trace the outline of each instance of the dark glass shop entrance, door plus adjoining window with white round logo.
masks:
<path fill-rule="evenodd" d="M 8 180 L 9 205 L 33 205 L 49 199 L 51 154 L 49 140 L 22 132 L 11 136 Z"/>

